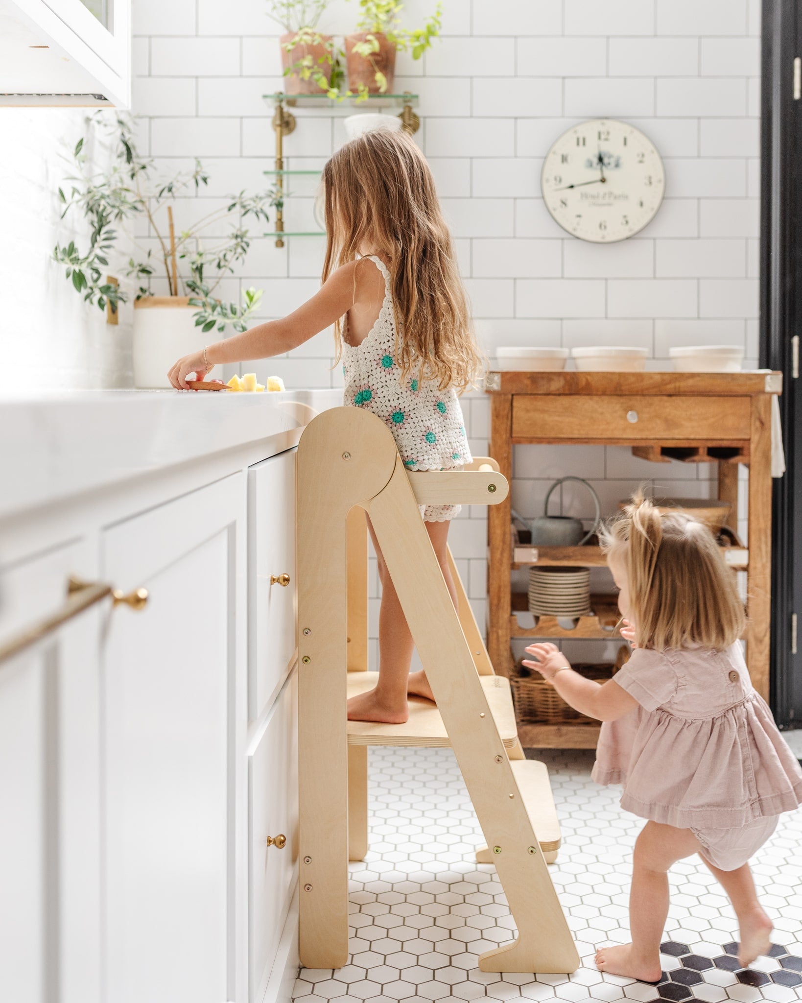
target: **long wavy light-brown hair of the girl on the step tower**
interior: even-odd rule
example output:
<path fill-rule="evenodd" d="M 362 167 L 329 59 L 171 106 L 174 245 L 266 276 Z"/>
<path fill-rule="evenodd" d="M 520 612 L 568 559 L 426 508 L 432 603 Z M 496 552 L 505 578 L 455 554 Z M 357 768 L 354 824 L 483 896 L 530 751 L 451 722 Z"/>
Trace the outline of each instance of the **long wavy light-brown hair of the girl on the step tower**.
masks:
<path fill-rule="evenodd" d="M 366 132 L 323 171 L 328 243 L 323 281 L 370 248 L 390 262 L 401 379 L 415 372 L 464 390 L 483 368 L 451 234 L 429 165 L 404 132 Z M 355 279 L 356 282 L 356 279 Z M 335 324 L 338 359 L 342 320 Z"/>

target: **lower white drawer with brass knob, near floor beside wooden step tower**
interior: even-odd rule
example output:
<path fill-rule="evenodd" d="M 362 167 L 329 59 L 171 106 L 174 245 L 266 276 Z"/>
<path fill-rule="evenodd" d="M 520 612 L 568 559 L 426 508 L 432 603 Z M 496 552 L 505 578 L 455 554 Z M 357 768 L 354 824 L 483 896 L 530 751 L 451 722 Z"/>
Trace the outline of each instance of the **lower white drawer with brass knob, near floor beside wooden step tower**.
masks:
<path fill-rule="evenodd" d="M 290 907 L 298 868 L 298 676 L 282 690 L 248 760 L 250 993 L 262 999 Z M 268 837 L 284 835 L 284 849 Z"/>

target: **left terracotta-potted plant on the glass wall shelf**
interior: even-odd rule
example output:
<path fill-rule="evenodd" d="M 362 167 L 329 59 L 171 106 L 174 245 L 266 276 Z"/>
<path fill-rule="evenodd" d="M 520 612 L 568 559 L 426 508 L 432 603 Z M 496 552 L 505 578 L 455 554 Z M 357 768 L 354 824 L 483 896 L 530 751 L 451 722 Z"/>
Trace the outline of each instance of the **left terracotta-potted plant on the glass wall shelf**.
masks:
<path fill-rule="evenodd" d="M 317 30 L 329 0 L 269 0 L 268 16 L 285 34 L 279 39 L 288 94 L 319 94 L 332 90 L 334 39 Z M 336 88 L 329 96 L 338 96 Z"/>

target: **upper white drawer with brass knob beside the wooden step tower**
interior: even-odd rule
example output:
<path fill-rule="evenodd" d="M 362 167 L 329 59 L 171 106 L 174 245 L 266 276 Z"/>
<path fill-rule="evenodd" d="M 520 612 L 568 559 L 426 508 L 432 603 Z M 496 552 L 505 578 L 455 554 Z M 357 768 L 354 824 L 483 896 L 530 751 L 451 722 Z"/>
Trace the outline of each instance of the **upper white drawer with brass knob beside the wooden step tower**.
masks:
<path fill-rule="evenodd" d="M 281 686 L 295 652 L 295 450 L 249 470 L 249 717 Z M 271 578 L 289 575 L 289 585 Z"/>

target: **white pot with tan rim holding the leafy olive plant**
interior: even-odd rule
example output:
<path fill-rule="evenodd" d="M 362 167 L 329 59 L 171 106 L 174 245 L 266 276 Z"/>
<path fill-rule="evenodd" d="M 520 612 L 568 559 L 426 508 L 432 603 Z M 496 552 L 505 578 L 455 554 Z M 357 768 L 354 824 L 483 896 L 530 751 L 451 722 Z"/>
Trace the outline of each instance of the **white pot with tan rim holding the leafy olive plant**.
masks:
<path fill-rule="evenodd" d="M 182 355 L 209 341 L 189 306 L 188 296 L 146 296 L 133 305 L 133 385 L 141 389 L 169 387 L 167 372 Z"/>

